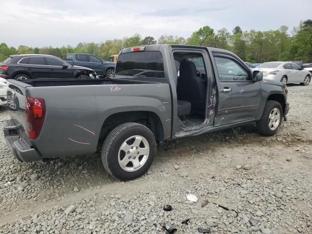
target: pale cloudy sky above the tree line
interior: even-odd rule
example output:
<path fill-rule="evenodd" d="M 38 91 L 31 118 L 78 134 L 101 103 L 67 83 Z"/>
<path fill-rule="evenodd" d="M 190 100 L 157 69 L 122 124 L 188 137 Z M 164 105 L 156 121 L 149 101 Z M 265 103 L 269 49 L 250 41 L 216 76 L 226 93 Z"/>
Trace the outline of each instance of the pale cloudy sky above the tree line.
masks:
<path fill-rule="evenodd" d="M 311 16 L 312 0 L 0 0 L 0 43 L 18 47 L 217 31 L 276 30 Z M 311 19 L 312 17 L 310 17 Z"/>

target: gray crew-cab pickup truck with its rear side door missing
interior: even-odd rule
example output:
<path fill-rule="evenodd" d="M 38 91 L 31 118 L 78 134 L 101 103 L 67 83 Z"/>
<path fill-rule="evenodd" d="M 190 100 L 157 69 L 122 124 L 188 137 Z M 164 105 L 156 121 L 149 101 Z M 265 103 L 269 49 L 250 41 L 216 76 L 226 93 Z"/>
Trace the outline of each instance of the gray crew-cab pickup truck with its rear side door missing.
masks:
<path fill-rule="evenodd" d="M 256 122 L 274 135 L 289 110 L 285 84 L 262 78 L 233 53 L 149 45 L 120 51 L 103 79 L 7 81 L 7 145 L 20 161 L 93 154 L 112 176 L 134 179 L 156 142 Z"/>

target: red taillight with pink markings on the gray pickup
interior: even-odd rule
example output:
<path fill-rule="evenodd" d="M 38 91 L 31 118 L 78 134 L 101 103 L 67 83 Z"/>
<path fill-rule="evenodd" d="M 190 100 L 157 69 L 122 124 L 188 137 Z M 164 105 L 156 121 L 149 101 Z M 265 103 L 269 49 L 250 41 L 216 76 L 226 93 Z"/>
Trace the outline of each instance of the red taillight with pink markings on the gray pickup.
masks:
<path fill-rule="evenodd" d="M 36 139 L 41 131 L 44 117 L 45 105 L 42 98 L 26 98 L 26 122 L 28 136 Z"/>

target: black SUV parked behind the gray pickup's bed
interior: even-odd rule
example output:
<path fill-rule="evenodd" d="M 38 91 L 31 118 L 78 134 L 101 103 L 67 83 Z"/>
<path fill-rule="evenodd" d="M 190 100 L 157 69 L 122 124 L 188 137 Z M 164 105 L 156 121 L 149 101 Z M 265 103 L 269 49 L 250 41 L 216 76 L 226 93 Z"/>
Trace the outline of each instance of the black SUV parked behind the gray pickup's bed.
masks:
<path fill-rule="evenodd" d="M 0 63 L 0 78 L 97 78 L 94 70 L 50 55 L 11 55 Z"/>

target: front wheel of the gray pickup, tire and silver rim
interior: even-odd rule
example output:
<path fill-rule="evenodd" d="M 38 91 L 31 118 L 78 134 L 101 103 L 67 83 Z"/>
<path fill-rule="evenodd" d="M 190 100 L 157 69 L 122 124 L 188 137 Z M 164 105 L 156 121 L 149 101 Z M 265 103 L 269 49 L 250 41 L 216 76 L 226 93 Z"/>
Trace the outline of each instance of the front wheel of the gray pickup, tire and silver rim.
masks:
<path fill-rule="evenodd" d="M 262 117 L 257 121 L 257 129 L 261 135 L 273 136 L 282 123 L 283 109 L 277 101 L 267 101 Z"/>

